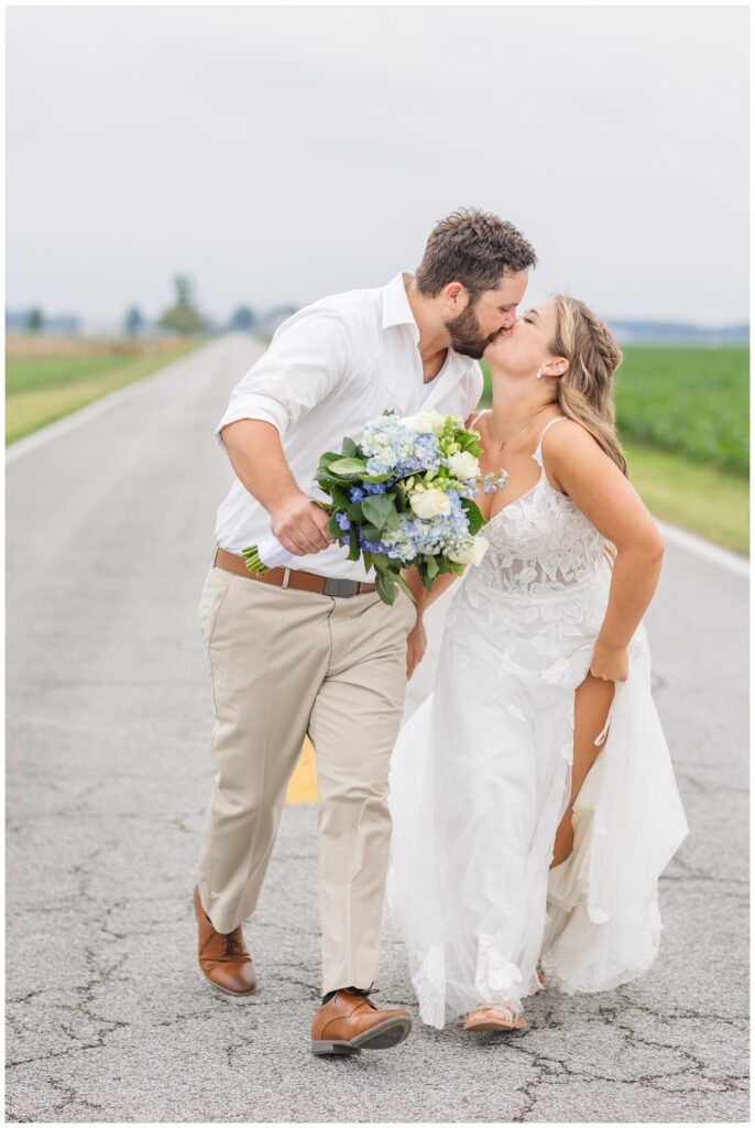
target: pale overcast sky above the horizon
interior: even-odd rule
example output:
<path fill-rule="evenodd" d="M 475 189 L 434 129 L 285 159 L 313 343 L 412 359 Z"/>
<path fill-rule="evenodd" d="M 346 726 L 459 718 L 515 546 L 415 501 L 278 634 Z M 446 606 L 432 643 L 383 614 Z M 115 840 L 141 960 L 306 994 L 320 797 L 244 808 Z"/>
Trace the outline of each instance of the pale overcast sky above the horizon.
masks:
<path fill-rule="evenodd" d="M 10 8 L 7 303 L 225 318 L 478 205 L 607 317 L 746 320 L 745 8 Z"/>

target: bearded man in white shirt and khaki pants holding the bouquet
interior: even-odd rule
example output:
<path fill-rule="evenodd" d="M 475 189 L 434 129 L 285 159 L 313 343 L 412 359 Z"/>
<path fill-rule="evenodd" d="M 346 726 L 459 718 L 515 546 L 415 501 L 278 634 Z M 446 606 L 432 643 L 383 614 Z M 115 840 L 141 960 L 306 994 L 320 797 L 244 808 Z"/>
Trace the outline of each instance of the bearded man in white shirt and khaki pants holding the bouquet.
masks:
<path fill-rule="evenodd" d="M 415 275 L 323 298 L 291 317 L 231 395 L 216 433 L 236 474 L 217 511 L 201 602 L 210 655 L 216 775 L 195 909 L 199 966 L 231 995 L 257 977 L 241 928 L 254 913 L 304 737 L 318 766 L 323 996 L 316 1054 L 384 1049 L 405 1010 L 370 997 L 379 959 L 391 822 L 388 772 L 416 623 L 383 603 L 346 559 L 312 500 L 320 455 L 359 441 L 387 408 L 467 418 L 482 390 L 477 358 L 509 328 L 535 263 L 510 224 L 459 211 L 432 231 Z M 272 531 L 295 559 L 261 579 L 241 552 Z M 421 629 L 419 627 L 418 629 Z"/>

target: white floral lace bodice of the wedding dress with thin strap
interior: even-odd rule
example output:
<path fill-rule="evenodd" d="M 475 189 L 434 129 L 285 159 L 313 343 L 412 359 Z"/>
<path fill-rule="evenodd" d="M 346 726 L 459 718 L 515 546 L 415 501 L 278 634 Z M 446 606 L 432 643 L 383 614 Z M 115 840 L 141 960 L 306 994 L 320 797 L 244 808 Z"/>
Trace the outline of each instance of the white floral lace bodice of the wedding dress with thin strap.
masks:
<path fill-rule="evenodd" d="M 605 537 L 545 474 L 543 437 L 560 422 L 550 421 L 532 456 L 540 466 L 535 484 L 483 527 L 490 547 L 482 563 L 470 570 L 468 588 L 544 594 L 589 581 L 606 567 Z"/>

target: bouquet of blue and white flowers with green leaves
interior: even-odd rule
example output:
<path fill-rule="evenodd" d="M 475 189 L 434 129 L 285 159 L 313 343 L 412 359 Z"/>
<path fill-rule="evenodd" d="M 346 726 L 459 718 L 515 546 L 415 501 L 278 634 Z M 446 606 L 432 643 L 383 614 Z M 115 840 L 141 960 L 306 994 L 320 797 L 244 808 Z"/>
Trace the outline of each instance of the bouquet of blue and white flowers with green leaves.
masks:
<path fill-rule="evenodd" d="M 402 567 L 415 564 L 429 588 L 442 572 L 459 574 L 482 559 L 488 546 L 477 534 L 485 519 L 473 499 L 480 486 L 503 487 L 507 475 L 480 475 L 479 438 L 458 415 L 384 412 L 366 424 L 361 443 L 344 439 L 340 453 L 320 458 L 317 481 L 330 504 L 318 504 L 330 514 L 328 531 L 348 545 L 348 559 L 362 556 L 366 571 L 374 569 L 383 602 L 394 601 L 397 583 L 414 599 Z M 272 535 L 243 557 L 257 575 L 293 559 Z"/>

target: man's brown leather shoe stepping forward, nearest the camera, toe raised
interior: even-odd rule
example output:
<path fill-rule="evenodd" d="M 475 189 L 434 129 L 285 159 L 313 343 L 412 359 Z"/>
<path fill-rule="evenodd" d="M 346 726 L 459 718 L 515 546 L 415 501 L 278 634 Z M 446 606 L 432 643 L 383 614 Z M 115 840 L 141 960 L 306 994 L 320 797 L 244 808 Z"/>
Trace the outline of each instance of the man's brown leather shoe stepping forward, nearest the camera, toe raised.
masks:
<path fill-rule="evenodd" d="M 402 1042 L 411 1030 L 403 1008 L 380 1011 L 368 998 L 373 988 L 346 987 L 314 1012 L 312 1054 L 358 1054 L 387 1050 Z"/>

